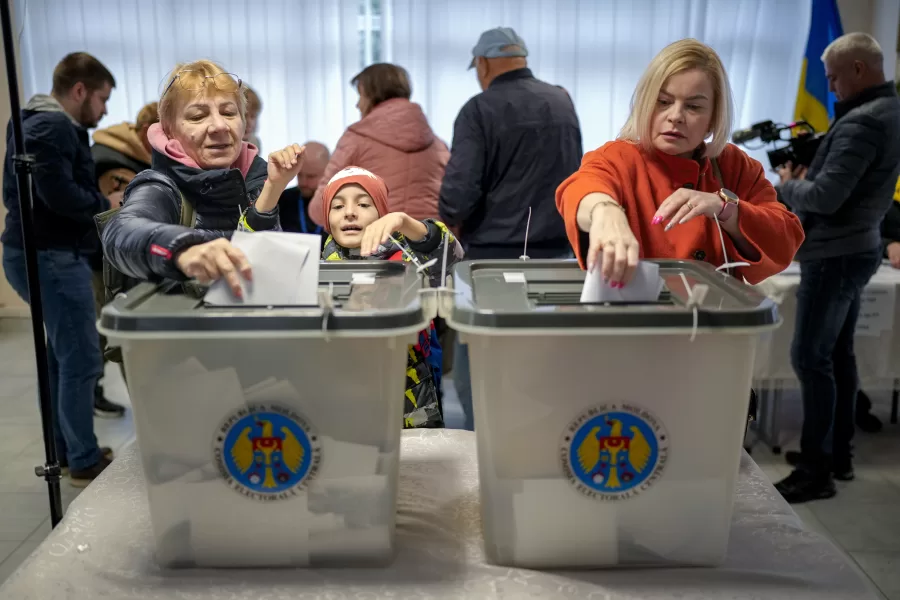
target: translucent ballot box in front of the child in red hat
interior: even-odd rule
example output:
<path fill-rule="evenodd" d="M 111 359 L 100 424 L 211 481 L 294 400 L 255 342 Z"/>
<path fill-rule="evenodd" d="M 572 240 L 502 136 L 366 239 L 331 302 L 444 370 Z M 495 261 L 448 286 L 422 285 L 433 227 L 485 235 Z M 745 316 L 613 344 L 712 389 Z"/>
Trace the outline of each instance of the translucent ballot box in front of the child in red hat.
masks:
<path fill-rule="evenodd" d="M 406 263 L 323 262 L 317 306 L 214 307 L 145 283 L 103 309 L 161 565 L 390 562 L 420 287 Z"/>

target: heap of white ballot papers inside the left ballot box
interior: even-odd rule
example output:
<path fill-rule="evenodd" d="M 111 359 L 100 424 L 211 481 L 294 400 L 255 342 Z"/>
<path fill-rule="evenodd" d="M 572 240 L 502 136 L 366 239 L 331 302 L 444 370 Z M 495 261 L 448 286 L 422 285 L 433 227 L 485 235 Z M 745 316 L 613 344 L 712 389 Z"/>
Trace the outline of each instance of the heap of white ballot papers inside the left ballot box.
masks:
<path fill-rule="evenodd" d="M 247 382 L 251 383 L 251 382 Z M 143 403 L 141 452 L 151 520 L 164 563 L 201 567 L 306 566 L 381 560 L 392 551 L 396 453 L 319 432 L 321 464 L 298 495 L 260 502 L 226 484 L 214 462 L 215 430 L 248 404 L 281 404 L 316 419 L 287 380 L 242 388 L 233 368 L 190 358 L 161 374 Z M 175 416 L 177 415 L 177 417 Z"/>

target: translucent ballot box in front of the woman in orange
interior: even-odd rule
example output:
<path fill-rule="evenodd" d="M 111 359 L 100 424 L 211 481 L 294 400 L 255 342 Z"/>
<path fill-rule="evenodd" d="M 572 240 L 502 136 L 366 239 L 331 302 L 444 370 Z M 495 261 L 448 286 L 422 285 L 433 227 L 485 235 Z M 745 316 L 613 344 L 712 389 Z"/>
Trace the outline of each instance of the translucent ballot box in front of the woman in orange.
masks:
<path fill-rule="evenodd" d="M 708 264 L 653 262 L 658 299 L 619 304 L 581 303 L 574 261 L 456 265 L 441 312 L 469 347 L 490 561 L 724 559 L 754 352 L 779 318 Z"/>

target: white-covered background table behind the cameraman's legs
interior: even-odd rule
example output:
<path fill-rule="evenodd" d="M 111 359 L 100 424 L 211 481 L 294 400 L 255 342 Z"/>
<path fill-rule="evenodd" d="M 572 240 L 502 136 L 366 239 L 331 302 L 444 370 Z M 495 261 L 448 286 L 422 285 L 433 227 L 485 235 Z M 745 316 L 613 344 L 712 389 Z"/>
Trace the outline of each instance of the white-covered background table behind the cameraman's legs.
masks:
<path fill-rule="evenodd" d="M 759 425 L 763 439 L 780 451 L 778 405 L 785 389 L 799 387 L 791 367 L 791 341 L 797 314 L 797 263 L 766 279 L 757 290 L 778 303 L 782 326 L 760 341 L 754 365 L 754 386 L 760 391 Z M 882 265 L 863 296 L 855 338 L 856 362 L 863 389 L 893 390 L 891 423 L 897 423 L 900 404 L 900 270 Z M 896 333 L 895 333 L 896 331 Z"/>

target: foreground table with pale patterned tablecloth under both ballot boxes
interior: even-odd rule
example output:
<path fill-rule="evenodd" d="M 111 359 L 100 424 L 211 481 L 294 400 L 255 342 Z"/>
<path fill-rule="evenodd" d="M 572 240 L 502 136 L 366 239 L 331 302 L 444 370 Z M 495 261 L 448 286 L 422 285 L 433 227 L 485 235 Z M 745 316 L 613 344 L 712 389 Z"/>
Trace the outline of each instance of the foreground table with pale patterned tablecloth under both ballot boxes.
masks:
<path fill-rule="evenodd" d="M 0 588 L 4 600 L 250 598 L 876 598 L 807 530 L 746 454 L 726 564 L 718 569 L 538 572 L 485 564 L 474 434 L 403 433 L 397 559 L 387 569 L 163 571 L 153 561 L 144 476 L 127 449 Z M 548 510 L 560 507 L 547 507 Z"/>

